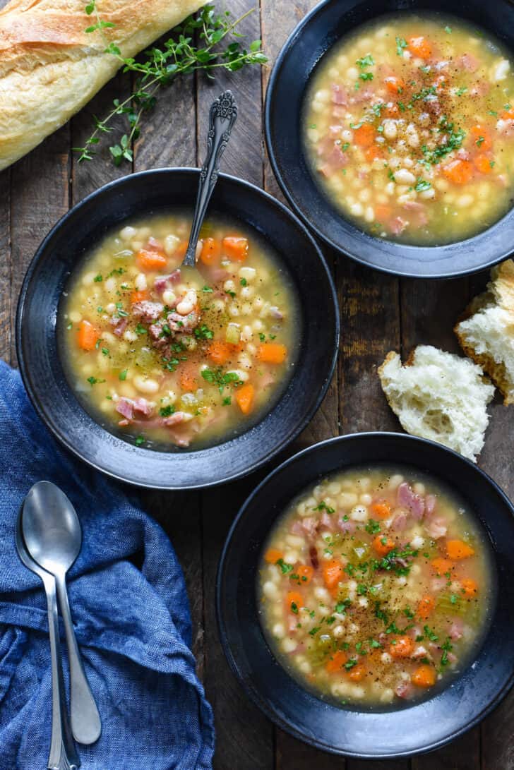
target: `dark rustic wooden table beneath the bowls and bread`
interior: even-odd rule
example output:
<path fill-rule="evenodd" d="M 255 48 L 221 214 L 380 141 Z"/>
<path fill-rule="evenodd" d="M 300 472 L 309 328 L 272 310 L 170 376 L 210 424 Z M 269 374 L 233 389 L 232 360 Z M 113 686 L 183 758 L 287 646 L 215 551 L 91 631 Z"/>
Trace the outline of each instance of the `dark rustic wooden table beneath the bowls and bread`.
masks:
<path fill-rule="evenodd" d="M 0 0 L 2 5 L 5 0 Z M 226 5 L 240 15 L 254 6 L 254 0 L 227 0 Z M 262 37 L 273 62 L 291 28 L 312 5 L 314 0 L 260 0 L 260 10 L 257 8 L 245 20 L 244 31 L 250 40 Z M 224 87 L 230 86 L 237 96 L 240 119 L 225 153 L 223 170 L 281 197 L 264 151 L 261 122 L 269 72 L 260 72 L 256 67 L 231 77 L 219 76 L 214 86 L 195 76 L 174 83 L 147 119 L 143 139 L 135 148 L 133 171 L 198 166 L 205 152 L 208 105 Z M 12 365 L 16 363 L 14 318 L 18 290 L 42 237 L 70 206 L 131 170 L 129 166 L 116 169 L 106 149 L 94 162 L 81 166 L 71 152 L 72 147 L 80 146 L 89 136 L 92 115 L 104 115 L 112 99 L 126 92 L 127 85 L 125 77 L 116 77 L 71 122 L 11 169 L 0 173 L 0 354 Z M 321 409 L 287 454 L 338 434 L 399 430 L 379 387 L 378 364 L 388 350 L 400 350 L 406 356 L 418 343 L 458 352 L 452 333 L 455 318 L 487 280 L 484 274 L 438 282 L 397 280 L 341 256 L 327 256 L 334 269 L 341 306 L 338 370 Z M 506 409 L 496 399 L 490 411 L 492 419 L 480 465 L 512 496 L 512 407 Z M 263 475 L 264 471 L 243 482 L 202 494 L 141 495 L 143 506 L 160 521 L 173 541 L 186 574 L 198 671 L 216 715 L 217 770 L 514 768 L 514 693 L 481 727 L 435 754 L 410 762 L 345 761 L 315 751 L 274 728 L 247 701 L 230 674 L 217 638 L 214 579 L 230 522 L 248 490 Z M 505 652 L 512 654 L 511 650 Z"/>

